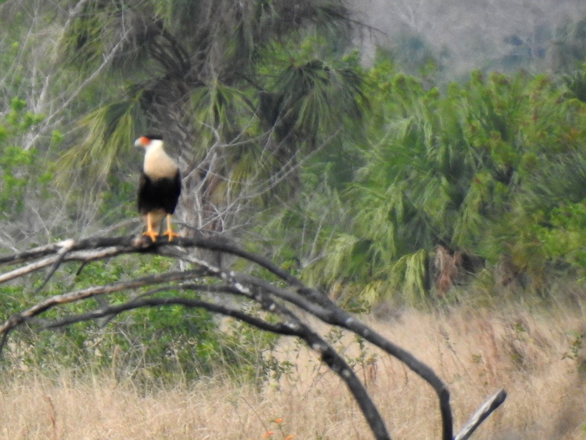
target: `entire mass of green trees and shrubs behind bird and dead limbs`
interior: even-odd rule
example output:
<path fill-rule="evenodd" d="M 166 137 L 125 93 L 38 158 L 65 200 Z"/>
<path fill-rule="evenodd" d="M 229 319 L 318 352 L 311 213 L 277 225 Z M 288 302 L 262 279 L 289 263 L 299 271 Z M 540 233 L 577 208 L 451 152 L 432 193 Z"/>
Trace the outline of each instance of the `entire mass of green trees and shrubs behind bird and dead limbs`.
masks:
<path fill-rule="evenodd" d="M 399 3 L 386 40 L 373 14 L 336 0 L 1 2 L 1 248 L 138 233 L 132 140 L 162 131 L 184 176 L 184 234 L 270 255 L 355 312 L 574 301 L 586 12 L 507 31 L 506 50 L 463 65 Z M 50 288 L 173 264 L 70 267 Z M 41 281 L 2 285 L 0 319 Z M 274 338 L 205 312 L 104 324 L 20 333 L 5 371 L 260 386 L 291 366 Z"/>

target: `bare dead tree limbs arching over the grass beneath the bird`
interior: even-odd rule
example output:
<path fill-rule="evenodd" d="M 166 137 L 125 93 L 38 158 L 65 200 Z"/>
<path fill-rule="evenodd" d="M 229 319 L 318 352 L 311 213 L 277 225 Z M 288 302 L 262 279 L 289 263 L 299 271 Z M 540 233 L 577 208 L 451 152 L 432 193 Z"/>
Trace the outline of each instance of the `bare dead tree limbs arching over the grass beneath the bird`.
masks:
<path fill-rule="evenodd" d="M 254 263 L 267 270 L 273 276 L 280 279 L 281 282 L 271 283 L 263 278 L 248 275 L 247 273 L 224 270 L 197 256 L 197 253 L 193 252 L 194 249 L 207 249 L 208 251 L 227 253 L 242 258 L 249 263 Z M 296 336 L 304 340 L 309 347 L 319 353 L 321 360 L 346 383 L 349 391 L 359 404 L 374 438 L 390 439 L 384 421 L 363 384 L 343 357 L 319 333 L 299 317 L 298 312 L 305 312 L 317 317 L 324 323 L 352 331 L 374 346 L 379 347 L 387 354 L 390 354 L 390 356 L 397 358 L 414 371 L 415 374 L 427 381 L 438 395 L 442 419 L 442 439 L 451 440 L 453 438 L 453 421 L 448 388 L 428 365 L 419 361 L 408 351 L 385 339 L 352 314 L 340 309 L 340 307 L 321 292 L 305 286 L 297 277 L 281 269 L 270 260 L 260 255 L 247 252 L 226 241 L 207 238 L 179 238 L 173 242 L 167 242 L 161 239 L 156 243 L 151 243 L 142 236 L 138 238 L 133 236 L 113 238 L 94 237 L 80 239 L 78 241 L 69 239 L 46 246 L 39 246 L 28 251 L 0 256 L 0 265 L 19 266 L 2 273 L 0 275 L 0 283 L 14 280 L 43 268 L 50 268 L 43 279 L 42 285 L 36 289 L 37 292 L 41 292 L 54 273 L 59 270 L 63 262 L 78 261 L 84 265 L 93 260 L 131 253 L 152 253 L 180 259 L 184 262 L 191 263 L 193 269 L 137 277 L 129 281 L 71 290 L 60 295 L 47 297 L 27 309 L 13 313 L 4 323 L 0 324 L 0 334 L 2 335 L 0 355 L 6 345 L 9 333 L 24 323 L 54 329 L 80 321 L 116 316 L 128 310 L 141 307 L 164 307 L 169 305 L 180 305 L 186 308 L 196 307 L 212 313 L 234 317 L 264 331 L 270 331 L 284 336 Z M 220 280 L 221 283 L 213 286 L 206 285 L 200 282 L 200 278 L 202 277 L 215 278 Z M 135 289 L 147 286 L 152 286 L 154 289 L 148 292 L 142 292 L 140 295 L 135 294 L 134 297 L 129 294 L 128 301 L 122 304 L 110 305 L 101 303 L 101 307 L 90 312 L 72 314 L 71 316 L 56 320 L 40 319 L 40 315 L 43 312 L 59 304 L 83 302 L 90 297 L 104 296 L 114 292 L 134 292 Z M 154 296 L 157 293 L 171 289 L 182 292 L 194 290 L 197 292 L 221 292 L 227 295 L 243 296 L 260 304 L 262 309 L 269 312 L 272 316 L 278 317 L 278 322 L 268 321 L 262 317 L 252 316 L 241 310 L 220 306 L 219 304 L 213 304 L 205 300 L 176 296 Z M 294 310 L 297 310 L 297 312 L 294 312 Z M 462 433 L 466 432 L 468 434 L 458 434 L 458 438 L 468 438 L 469 433 L 476 429 L 483 419 L 488 417 L 490 412 L 494 411 L 505 400 L 505 396 L 506 393 L 502 391 L 489 401 L 490 404 L 487 402 L 483 405 L 476 413 L 478 417 L 471 419 L 471 422 L 466 425 L 465 431 L 462 431 Z"/>

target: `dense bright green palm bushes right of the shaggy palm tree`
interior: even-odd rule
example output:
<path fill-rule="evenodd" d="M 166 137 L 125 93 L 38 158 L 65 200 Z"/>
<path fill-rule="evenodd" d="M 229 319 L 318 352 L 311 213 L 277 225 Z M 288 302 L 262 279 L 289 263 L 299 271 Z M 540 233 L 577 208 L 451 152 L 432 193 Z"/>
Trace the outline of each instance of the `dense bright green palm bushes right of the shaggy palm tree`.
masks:
<path fill-rule="evenodd" d="M 568 268 L 585 275 L 581 101 L 544 76 L 479 72 L 442 94 L 384 60 L 369 83 L 364 165 L 340 198 L 352 220 L 308 276 L 420 303 L 443 275 L 437 246 L 507 260 L 536 287 Z"/>

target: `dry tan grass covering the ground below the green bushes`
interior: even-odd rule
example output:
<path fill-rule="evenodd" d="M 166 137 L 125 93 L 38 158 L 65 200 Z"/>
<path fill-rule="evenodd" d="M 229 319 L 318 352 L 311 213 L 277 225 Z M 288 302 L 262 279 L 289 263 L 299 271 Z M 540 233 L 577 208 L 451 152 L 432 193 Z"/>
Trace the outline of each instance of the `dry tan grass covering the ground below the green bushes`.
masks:
<path fill-rule="evenodd" d="M 586 438 L 586 360 L 583 349 L 571 351 L 585 322 L 580 307 L 539 314 L 460 307 L 435 316 L 411 310 L 393 321 L 371 320 L 449 384 L 456 428 L 488 395 L 507 390 L 505 404 L 477 432 L 481 439 Z M 348 357 L 360 354 L 349 336 L 336 346 L 347 346 Z M 261 439 L 267 431 L 277 439 L 372 438 L 346 388 L 312 353 L 287 340 L 281 356 L 299 366 L 262 392 L 225 380 L 145 389 L 107 374 L 67 372 L 5 380 L 0 438 Z M 427 384 L 372 349 L 356 369 L 393 438 L 438 438 L 437 400 Z"/>

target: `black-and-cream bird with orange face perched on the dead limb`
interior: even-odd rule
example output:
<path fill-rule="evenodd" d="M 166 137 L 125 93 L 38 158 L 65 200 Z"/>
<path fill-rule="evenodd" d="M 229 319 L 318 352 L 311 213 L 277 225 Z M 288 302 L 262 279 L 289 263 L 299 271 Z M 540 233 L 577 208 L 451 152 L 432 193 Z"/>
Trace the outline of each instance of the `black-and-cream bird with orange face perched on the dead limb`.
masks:
<path fill-rule="evenodd" d="M 147 231 L 142 235 L 155 242 L 166 216 L 167 229 L 163 235 L 172 241 L 179 236 L 173 232 L 171 225 L 171 216 L 181 194 L 179 165 L 165 152 L 163 137 L 160 134 L 141 136 L 134 145 L 145 149 L 144 164 L 138 182 L 138 212 L 147 222 Z"/>

